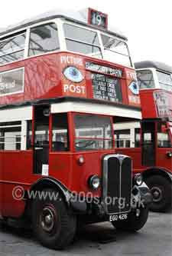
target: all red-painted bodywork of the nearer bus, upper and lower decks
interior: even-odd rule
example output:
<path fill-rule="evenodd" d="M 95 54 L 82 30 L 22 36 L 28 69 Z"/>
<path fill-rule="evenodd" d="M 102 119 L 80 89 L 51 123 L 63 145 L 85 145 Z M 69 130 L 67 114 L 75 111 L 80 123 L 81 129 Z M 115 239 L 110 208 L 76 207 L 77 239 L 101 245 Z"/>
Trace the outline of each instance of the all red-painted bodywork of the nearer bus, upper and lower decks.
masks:
<path fill-rule="evenodd" d="M 84 57 L 83 55 L 75 55 L 69 52 L 41 55 L 2 66 L 0 72 L 24 67 L 24 92 L 1 96 L 0 105 L 23 105 L 26 102 L 34 103 L 35 100 L 47 99 L 49 101 L 50 99 L 63 98 L 66 96 L 92 99 L 91 71 L 86 70 L 86 61 L 122 70 L 122 78 L 120 78 L 122 103 L 119 103 L 119 105 L 140 106 L 138 96 L 133 95 L 133 102 L 131 99 L 128 99 L 128 94 L 131 94 L 131 92 L 128 93 L 128 91 L 130 91 L 128 85 L 131 84 L 131 81 L 133 81 L 135 77 L 135 71 L 132 68 L 112 65 L 103 60 Z M 80 69 L 84 78 L 83 81 L 76 84 L 64 77 L 63 70 L 69 65 Z M 109 76 L 114 77 L 114 75 Z M 65 85 L 73 85 L 71 87 L 72 90 L 65 91 Z M 82 88 L 82 90 L 77 90 L 77 86 L 79 86 L 78 88 Z M 106 151 L 83 151 L 82 153 L 76 152 L 73 147 L 72 118 L 73 113 L 69 112 L 70 151 L 58 153 L 50 149 L 49 176 L 56 178 L 70 191 L 87 192 L 90 191 L 87 185 L 89 176 L 92 174 L 102 175 L 102 156 L 107 153 L 113 153 L 114 149 Z M 85 158 L 83 165 L 78 165 L 77 163 L 77 159 L 80 155 L 83 155 Z M 0 151 L 0 215 L 19 217 L 24 213 L 25 201 L 16 201 L 12 193 L 16 186 L 22 186 L 24 190 L 27 190 L 31 188 L 34 182 L 42 178 L 42 175 L 33 174 L 33 158 L 34 153 L 32 149 L 28 149 L 27 151 Z M 20 193 L 21 191 L 18 189 L 17 194 Z M 92 191 L 92 193 L 100 196 L 101 191 Z"/>

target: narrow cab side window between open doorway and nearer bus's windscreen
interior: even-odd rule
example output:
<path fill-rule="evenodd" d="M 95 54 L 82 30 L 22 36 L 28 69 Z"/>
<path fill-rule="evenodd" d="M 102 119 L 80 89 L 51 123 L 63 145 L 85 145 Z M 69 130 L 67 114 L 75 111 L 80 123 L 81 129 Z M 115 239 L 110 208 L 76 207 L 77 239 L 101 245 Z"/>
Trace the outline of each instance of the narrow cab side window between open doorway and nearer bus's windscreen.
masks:
<path fill-rule="evenodd" d="M 52 151 L 69 151 L 67 113 L 54 114 L 52 118 Z"/>

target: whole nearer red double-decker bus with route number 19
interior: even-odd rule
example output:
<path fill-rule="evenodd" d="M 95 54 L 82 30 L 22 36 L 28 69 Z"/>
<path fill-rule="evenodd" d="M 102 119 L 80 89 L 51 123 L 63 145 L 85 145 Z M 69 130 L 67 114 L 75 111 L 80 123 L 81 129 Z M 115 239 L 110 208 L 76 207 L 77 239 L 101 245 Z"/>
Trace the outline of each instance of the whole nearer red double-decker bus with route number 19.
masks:
<path fill-rule="evenodd" d="M 113 120 L 141 118 L 127 38 L 87 14 L 0 34 L 0 216 L 31 224 L 49 248 L 73 241 L 77 221 L 139 230 L 151 201 L 131 158 L 115 154 Z"/>

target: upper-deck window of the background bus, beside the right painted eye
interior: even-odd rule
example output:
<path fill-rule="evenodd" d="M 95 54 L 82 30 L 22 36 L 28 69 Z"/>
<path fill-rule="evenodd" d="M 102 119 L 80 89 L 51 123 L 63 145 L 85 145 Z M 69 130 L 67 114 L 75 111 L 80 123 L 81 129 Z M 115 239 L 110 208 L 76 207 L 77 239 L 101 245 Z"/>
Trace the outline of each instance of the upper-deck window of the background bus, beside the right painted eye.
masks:
<path fill-rule="evenodd" d="M 138 78 L 138 87 L 140 89 L 155 88 L 154 77 L 151 70 L 139 70 L 136 73 Z"/>

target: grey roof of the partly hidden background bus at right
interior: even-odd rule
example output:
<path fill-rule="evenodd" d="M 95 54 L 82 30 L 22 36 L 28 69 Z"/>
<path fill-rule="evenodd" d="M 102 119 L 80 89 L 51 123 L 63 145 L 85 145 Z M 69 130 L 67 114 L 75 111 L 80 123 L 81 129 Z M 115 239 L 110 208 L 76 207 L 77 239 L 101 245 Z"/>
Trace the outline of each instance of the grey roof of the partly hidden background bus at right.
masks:
<path fill-rule="evenodd" d="M 135 69 L 140 68 L 157 68 L 162 71 L 167 71 L 172 73 L 172 67 L 170 65 L 166 65 L 163 62 L 153 62 L 153 61 L 144 61 L 144 62 L 135 62 Z"/>

